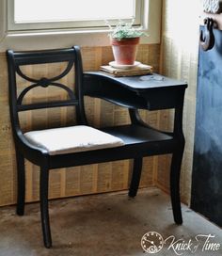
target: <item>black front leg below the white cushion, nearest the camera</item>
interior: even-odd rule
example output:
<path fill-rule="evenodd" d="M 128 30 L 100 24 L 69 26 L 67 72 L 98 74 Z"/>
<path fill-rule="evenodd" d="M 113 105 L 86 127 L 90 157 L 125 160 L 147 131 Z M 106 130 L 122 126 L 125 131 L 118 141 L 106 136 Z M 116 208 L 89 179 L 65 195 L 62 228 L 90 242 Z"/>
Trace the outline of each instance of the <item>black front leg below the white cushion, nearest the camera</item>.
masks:
<path fill-rule="evenodd" d="M 40 216 L 45 248 L 52 247 L 48 207 L 49 169 L 40 168 Z"/>

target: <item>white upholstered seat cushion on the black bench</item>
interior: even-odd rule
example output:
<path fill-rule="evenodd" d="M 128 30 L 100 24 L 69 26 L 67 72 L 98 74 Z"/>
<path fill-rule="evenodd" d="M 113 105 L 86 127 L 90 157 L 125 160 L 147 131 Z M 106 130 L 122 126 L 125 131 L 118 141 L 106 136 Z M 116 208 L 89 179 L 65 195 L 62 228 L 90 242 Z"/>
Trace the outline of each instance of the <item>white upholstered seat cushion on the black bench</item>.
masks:
<path fill-rule="evenodd" d="M 24 136 L 30 143 L 47 150 L 51 155 L 94 151 L 124 145 L 119 137 L 86 125 L 31 131 L 25 133 Z"/>

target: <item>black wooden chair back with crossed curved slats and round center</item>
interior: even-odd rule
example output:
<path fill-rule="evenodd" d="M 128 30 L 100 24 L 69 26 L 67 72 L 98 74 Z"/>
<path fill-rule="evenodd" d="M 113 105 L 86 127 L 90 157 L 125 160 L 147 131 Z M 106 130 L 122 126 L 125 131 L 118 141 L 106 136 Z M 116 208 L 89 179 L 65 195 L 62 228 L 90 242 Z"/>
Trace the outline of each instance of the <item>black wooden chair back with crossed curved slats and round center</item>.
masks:
<path fill-rule="evenodd" d="M 69 49 L 57 49 L 57 50 L 43 50 L 43 51 L 30 51 L 30 52 L 13 52 L 7 51 L 8 57 L 8 84 L 9 84 L 9 107 L 10 118 L 12 123 L 13 132 L 20 130 L 19 112 L 74 106 L 76 108 L 76 120 L 78 124 L 87 124 L 84 98 L 83 98 L 83 68 L 82 57 L 78 46 L 73 46 Z M 25 65 L 37 65 L 37 64 L 50 64 L 65 62 L 66 68 L 54 77 L 40 77 L 33 78 L 27 76 L 23 72 L 23 66 Z M 33 66 L 35 67 L 35 66 Z M 71 70 L 73 72 L 73 88 L 64 85 L 60 82 L 60 79 L 64 78 Z M 35 70 L 34 70 L 35 71 Z M 20 77 L 19 77 L 20 76 Z M 25 87 L 18 93 L 18 77 L 24 79 Z M 27 86 L 26 86 L 27 85 Z M 24 98 L 28 92 L 34 88 L 60 88 L 65 90 L 67 96 L 65 99 L 56 101 L 41 101 L 39 103 L 24 103 Z M 73 117 L 74 118 L 74 117 Z"/>

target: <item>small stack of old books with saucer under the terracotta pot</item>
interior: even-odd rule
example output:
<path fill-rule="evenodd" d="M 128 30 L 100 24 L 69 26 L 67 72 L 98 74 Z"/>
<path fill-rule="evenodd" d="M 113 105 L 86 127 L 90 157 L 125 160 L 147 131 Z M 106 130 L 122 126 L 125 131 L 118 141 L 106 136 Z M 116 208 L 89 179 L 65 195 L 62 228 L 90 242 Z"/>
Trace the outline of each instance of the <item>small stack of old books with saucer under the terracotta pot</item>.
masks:
<path fill-rule="evenodd" d="M 103 72 L 108 72 L 114 76 L 133 76 L 133 75 L 145 75 L 152 73 L 152 67 L 139 63 L 133 67 L 113 67 L 111 65 L 101 66 L 100 68 Z"/>

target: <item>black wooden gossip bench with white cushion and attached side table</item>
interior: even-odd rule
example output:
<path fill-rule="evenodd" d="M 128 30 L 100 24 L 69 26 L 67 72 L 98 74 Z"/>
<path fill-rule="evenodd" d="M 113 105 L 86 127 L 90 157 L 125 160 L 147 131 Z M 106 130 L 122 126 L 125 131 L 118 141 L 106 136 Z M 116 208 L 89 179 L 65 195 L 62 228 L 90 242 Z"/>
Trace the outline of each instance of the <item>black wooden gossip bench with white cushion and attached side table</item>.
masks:
<path fill-rule="evenodd" d="M 83 72 L 81 52 L 78 46 L 69 49 L 13 52 L 8 50 L 8 92 L 11 129 L 15 142 L 18 175 L 17 214 L 24 215 L 25 166 L 24 159 L 40 167 L 40 214 L 44 246 L 51 248 L 48 187 L 52 169 L 69 168 L 121 159 L 134 159 L 129 196 L 135 197 L 144 156 L 172 153 L 170 192 L 174 220 L 182 224 L 180 201 L 180 172 L 184 136 L 182 134 L 182 106 L 185 82 L 158 74 L 115 78 L 104 72 Z M 45 77 L 38 69 L 28 76 L 23 66 L 67 63 L 65 70 L 55 76 Z M 74 69 L 72 69 L 74 67 Z M 71 72 L 72 71 L 72 72 Z M 52 72 L 51 72 L 52 73 Z M 61 80 L 71 73 L 71 85 Z M 24 81 L 17 88 L 17 77 Z M 35 78 L 39 77 L 39 78 Z M 66 80 L 65 80 L 66 81 Z M 73 87 L 74 86 L 74 87 Z M 26 94 L 39 88 L 47 97 L 42 102 L 25 103 Z M 49 102 L 48 88 L 60 89 L 66 97 Z M 41 94 L 40 94 L 41 95 Z M 42 94 L 43 95 L 43 94 Z M 98 97 L 129 110 L 131 123 L 95 129 L 88 125 L 84 96 Z M 50 98 L 50 97 L 49 97 Z M 21 111 L 52 107 L 74 107 L 77 124 L 54 129 L 34 130 L 24 133 L 20 127 Z M 138 109 L 175 109 L 174 128 L 171 133 L 158 131 L 140 119 Z M 43 117 L 43 115 L 42 115 Z M 90 216 L 88 216 L 90 217 Z"/>

